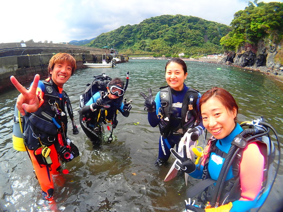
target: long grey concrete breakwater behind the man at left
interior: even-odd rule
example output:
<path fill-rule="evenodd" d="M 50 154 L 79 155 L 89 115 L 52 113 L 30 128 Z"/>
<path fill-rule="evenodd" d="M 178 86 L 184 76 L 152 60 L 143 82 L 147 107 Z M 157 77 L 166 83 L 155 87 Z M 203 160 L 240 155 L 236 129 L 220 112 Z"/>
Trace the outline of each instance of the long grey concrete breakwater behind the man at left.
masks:
<path fill-rule="evenodd" d="M 101 63 L 102 59 L 110 62 L 114 55 L 109 49 L 97 49 L 85 46 L 54 43 L 0 43 L 0 93 L 14 88 L 10 76 L 15 76 L 20 83 L 31 82 L 36 74 L 48 76 L 48 63 L 57 53 L 72 54 L 77 61 L 77 68 L 86 68 L 83 63 Z M 128 62 L 128 57 L 115 55 L 121 62 Z"/>

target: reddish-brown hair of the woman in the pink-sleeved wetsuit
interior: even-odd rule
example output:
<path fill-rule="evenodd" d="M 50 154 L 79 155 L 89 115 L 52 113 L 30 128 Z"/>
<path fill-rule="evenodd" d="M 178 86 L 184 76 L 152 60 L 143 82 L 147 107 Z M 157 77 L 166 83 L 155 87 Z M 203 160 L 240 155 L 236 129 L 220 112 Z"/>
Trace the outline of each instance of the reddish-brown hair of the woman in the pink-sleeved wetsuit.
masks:
<path fill-rule="evenodd" d="M 237 119 L 239 107 L 237 105 L 234 97 L 225 89 L 213 87 L 210 90 L 206 91 L 200 99 L 200 111 L 202 113 L 202 104 L 205 103 L 209 98 L 217 97 L 225 108 L 229 111 L 233 111 L 234 108 L 237 109 L 235 120 Z"/>

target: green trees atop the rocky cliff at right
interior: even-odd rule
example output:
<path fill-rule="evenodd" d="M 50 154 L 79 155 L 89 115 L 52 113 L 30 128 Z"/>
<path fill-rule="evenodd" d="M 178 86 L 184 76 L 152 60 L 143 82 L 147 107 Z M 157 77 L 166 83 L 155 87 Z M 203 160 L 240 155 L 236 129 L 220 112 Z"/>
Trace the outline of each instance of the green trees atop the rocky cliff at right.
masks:
<path fill-rule="evenodd" d="M 244 10 L 235 13 L 232 31 L 220 42 L 226 50 L 237 51 L 244 43 L 257 44 L 269 38 L 278 42 L 283 36 L 283 3 L 248 2 Z"/>

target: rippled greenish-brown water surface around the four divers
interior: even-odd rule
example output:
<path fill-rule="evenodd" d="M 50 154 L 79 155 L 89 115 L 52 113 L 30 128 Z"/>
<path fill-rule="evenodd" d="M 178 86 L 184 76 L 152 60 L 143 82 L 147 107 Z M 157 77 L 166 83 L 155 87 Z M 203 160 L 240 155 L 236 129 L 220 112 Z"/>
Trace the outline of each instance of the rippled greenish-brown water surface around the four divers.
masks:
<path fill-rule="evenodd" d="M 118 67 L 81 69 L 70 78 L 64 89 L 70 96 L 76 123 L 79 126 L 79 95 L 93 75 L 105 72 L 110 77 L 125 78 L 130 82 L 125 93 L 132 99 L 129 117 L 118 115 L 114 141 L 104 142 L 93 149 L 91 142 L 79 126 L 80 134 L 68 135 L 80 149 L 80 156 L 64 164 L 68 174 L 55 178 L 55 199 L 61 211 L 182 211 L 186 189 L 183 176 L 163 182 L 169 167 L 154 166 L 158 154 L 158 127 L 152 128 L 143 110 L 140 92 L 152 88 L 153 95 L 166 85 L 166 60 L 132 59 Z M 235 67 L 186 61 L 186 84 L 204 93 L 212 86 L 227 89 L 240 106 L 239 122 L 264 116 L 283 138 L 283 84 L 261 73 Z M 17 90 L 0 94 L 0 211 L 48 210 L 41 200 L 40 185 L 33 173 L 26 152 L 13 149 L 12 132 Z M 105 127 L 106 129 L 106 127 Z M 109 132 L 105 132 L 107 139 Z M 172 163 L 174 160 L 170 158 Z M 282 160 L 281 160 L 282 162 Z M 277 162 L 274 162 L 276 166 Z M 283 168 L 261 211 L 276 211 L 282 204 Z M 190 187 L 197 182 L 189 179 Z"/>

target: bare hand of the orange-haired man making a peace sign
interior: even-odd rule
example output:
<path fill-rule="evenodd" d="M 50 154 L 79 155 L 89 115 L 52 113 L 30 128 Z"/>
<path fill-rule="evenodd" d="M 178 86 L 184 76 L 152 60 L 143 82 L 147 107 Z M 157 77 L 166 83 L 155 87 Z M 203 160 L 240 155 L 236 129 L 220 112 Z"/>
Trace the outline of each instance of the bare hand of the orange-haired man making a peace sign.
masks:
<path fill-rule="evenodd" d="M 33 84 L 29 90 L 25 89 L 16 77 L 10 77 L 11 82 L 20 91 L 20 95 L 17 98 L 16 106 L 20 111 L 21 115 L 24 116 L 25 111 L 32 113 L 39 109 L 40 101 L 36 95 L 37 87 L 39 84 L 40 76 L 36 75 L 33 80 Z"/>

